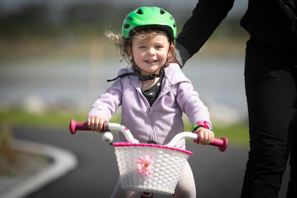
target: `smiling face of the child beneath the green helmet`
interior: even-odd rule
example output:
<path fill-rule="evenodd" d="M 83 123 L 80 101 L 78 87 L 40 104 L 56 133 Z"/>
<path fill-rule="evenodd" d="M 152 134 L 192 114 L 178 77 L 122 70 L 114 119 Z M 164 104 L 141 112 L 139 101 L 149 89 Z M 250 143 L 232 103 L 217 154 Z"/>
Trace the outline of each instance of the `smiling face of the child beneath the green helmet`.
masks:
<path fill-rule="evenodd" d="M 168 38 L 163 32 L 148 39 L 139 36 L 141 34 L 136 33 L 132 41 L 134 61 L 142 75 L 157 74 L 167 59 Z"/>

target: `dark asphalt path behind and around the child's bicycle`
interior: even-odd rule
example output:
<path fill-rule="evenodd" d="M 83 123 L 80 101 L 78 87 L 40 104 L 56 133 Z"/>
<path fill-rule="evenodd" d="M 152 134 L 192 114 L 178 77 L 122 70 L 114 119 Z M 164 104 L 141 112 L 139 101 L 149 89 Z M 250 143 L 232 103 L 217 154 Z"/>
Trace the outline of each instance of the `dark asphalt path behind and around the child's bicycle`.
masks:
<path fill-rule="evenodd" d="M 65 130 L 15 128 L 17 139 L 45 143 L 72 151 L 78 158 L 76 169 L 26 198 L 109 198 L 118 179 L 114 148 L 101 142 L 92 132 L 70 134 Z M 220 138 L 220 137 L 217 137 Z M 114 134 L 117 142 L 117 134 Z M 197 197 L 239 198 L 247 162 L 247 149 L 230 146 L 225 152 L 212 146 L 187 142 L 193 152 L 188 161 L 195 177 Z M 285 198 L 288 172 L 285 173 L 279 198 Z M 154 195 L 154 198 L 172 196 Z"/>

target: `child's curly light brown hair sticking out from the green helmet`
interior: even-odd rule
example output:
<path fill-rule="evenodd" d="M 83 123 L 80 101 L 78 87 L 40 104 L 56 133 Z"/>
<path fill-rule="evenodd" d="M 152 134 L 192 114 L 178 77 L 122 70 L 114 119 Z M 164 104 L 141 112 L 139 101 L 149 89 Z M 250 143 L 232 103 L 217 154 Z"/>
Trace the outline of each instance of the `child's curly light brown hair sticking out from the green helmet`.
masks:
<path fill-rule="evenodd" d="M 146 29 L 146 30 L 138 31 L 137 33 L 141 34 L 141 36 L 139 36 L 138 38 L 149 39 L 149 38 L 152 38 L 152 37 L 160 34 L 161 32 L 165 33 L 168 38 L 168 41 L 170 41 L 170 37 L 168 36 L 168 33 L 164 32 L 164 31 L 160 31 L 160 30 Z M 131 48 L 132 48 L 133 36 L 129 37 L 129 38 L 122 38 L 121 34 L 117 34 L 117 33 L 110 32 L 110 31 L 107 31 L 105 33 L 105 35 L 109 38 L 110 43 L 114 44 L 116 49 L 119 49 L 120 56 L 123 57 L 123 59 L 121 59 L 120 62 L 126 61 L 130 65 L 128 67 L 134 67 L 134 68 L 138 69 L 138 66 L 134 62 L 133 56 L 129 53 L 132 50 Z M 170 41 L 170 42 L 171 42 L 170 46 L 174 46 L 174 41 Z M 175 48 L 173 48 L 173 49 L 169 48 L 169 51 L 168 51 L 169 55 L 168 55 L 167 61 L 165 63 L 165 67 L 169 66 L 171 64 L 171 62 L 173 62 L 176 59 L 176 54 L 175 54 L 174 49 Z"/>

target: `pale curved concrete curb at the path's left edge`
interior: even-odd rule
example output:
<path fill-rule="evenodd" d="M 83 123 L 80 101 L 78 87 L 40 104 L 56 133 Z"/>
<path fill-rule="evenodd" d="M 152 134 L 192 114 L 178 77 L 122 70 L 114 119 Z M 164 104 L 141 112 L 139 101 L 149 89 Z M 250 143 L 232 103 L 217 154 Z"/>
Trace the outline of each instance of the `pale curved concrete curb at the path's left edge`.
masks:
<path fill-rule="evenodd" d="M 15 181 L 9 181 L 5 190 L 0 191 L 0 198 L 24 198 L 65 175 L 78 165 L 77 157 L 64 148 L 25 140 L 13 140 L 12 146 L 16 150 L 47 156 L 52 159 L 52 162 L 26 178 L 16 178 Z"/>

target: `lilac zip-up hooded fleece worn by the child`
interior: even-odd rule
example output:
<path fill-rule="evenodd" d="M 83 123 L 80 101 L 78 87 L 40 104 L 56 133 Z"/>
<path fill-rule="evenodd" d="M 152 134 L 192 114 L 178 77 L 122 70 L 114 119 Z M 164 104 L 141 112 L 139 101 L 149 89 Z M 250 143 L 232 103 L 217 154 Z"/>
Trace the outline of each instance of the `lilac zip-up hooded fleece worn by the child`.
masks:
<path fill-rule="evenodd" d="M 120 69 L 118 75 L 133 72 Z M 184 131 L 183 112 L 193 125 L 198 121 L 209 121 L 207 107 L 194 91 L 191 81 L 182 73 L 178 64 L 172 63 L 164 68 L 161 92 L 152 106 L 141 91 L 141 82 L 137 76 L 126 76 L 114 81 L 104 94 L 99 96 L 91 107 L 87 118 L 100 115 L 108 121 L 122 106 L 121 124 L 127 127 L 140 143 L 155 141 L 166 145 L 170 140 Z M 119 133 L 119 139 L 127 142 Z M 176 148 L 185 149 L 185 140 L 181 140 Z"/>

